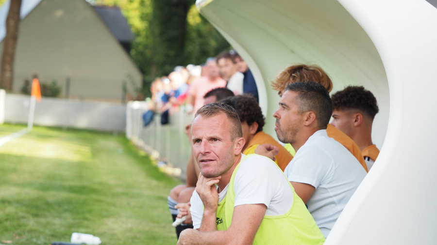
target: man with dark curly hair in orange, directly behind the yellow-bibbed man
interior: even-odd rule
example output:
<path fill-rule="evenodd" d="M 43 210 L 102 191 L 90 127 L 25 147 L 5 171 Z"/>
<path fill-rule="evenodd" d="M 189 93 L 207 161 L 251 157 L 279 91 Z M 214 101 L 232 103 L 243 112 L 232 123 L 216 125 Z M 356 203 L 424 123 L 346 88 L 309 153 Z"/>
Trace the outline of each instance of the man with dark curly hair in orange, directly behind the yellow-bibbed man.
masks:
<path fill-rule="evenodd" d="M 258 145 L 272 144 L 279 148 L 274 161 L 284 171 L 293 156 L 278 141 L 263 132 L 264 116 L 255 98 L 250 95 L 237 95 L 220 100 L 219 103 L 233 107 L 240 118 L 243 138 L 246 142 L 243 146 L 243 154 L 255 153 Z"/>

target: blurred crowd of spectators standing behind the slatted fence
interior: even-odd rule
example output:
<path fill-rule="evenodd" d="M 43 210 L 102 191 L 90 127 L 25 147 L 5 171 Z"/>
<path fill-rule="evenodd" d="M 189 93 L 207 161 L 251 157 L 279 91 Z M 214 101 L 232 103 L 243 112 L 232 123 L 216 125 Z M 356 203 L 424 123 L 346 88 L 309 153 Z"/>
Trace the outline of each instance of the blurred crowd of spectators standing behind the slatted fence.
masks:
<path fill-rule="evenodd" d="M 201 65 L 176 66 L 168 76 L 156 78 L 151 84 L 149 111 L 143 115 L 144 125 L 156 113 L 161 115 L 161 123 L 167 124 L 169 115 L 181 106 L 193 114 L 203 106 L 203 96 L 215 88 L 228 88 L 235 95 L 251 94 L 258 101 L 256 83 L 246 62 L 234 50 L 224 51 Z"/>

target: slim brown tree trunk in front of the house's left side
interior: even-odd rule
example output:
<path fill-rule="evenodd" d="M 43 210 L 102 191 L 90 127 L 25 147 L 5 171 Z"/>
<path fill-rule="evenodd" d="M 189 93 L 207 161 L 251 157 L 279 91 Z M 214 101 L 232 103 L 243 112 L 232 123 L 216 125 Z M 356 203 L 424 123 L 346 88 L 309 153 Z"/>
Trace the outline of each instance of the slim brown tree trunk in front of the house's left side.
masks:
<path fill-rule="evenodd" d="M 13 82 L 13 67 L 15 49 L 18 38 L 18 23 L 20 21 L 21 0 L 11 0 L 9 13 L 6 18 L 6 37 L 3 42 L 1 57 L 0 88 L 10 92 Z"/>

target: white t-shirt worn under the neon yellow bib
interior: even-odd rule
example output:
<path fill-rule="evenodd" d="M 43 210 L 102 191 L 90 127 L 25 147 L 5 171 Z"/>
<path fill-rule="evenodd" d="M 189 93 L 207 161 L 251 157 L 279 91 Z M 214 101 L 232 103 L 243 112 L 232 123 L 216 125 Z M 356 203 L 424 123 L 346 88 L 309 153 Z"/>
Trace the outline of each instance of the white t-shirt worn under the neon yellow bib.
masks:
<path fill-rule="evenodd" d="M 241 159 L 245 157 L 241 154 Z M 229 184 L 218 193 L 218 202 L 223 200 Z M 267 157 L 253 155 L 240 163 L 234 180 L 235 206 L 263 203 L 267 206 L 266 215 L 282 215 L 293 204 L 293 191 L 284 173 Z M 202 222 L 203 203 L 195 191 L 191 197 L 191 217 L 194 229 Z"/>

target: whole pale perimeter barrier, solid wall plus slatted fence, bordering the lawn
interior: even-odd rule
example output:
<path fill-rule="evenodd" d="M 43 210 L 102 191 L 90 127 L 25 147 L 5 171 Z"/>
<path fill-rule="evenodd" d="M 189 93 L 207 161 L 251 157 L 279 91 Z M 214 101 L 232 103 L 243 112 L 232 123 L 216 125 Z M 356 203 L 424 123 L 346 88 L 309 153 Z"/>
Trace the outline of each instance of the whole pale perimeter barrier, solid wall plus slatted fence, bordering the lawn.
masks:
<path fill-rule="evenodd" d="M 0 124 L 28 122 L 30 96 L 4 93 L 0 90 Z M 43 97 L 36 103 L 34 124 L 63 128 L 81 128 L 114 133 L 126 131 L 126 137 L 138 148 L 160 161 L 164 169 L 181 180 L 186 179 L 186 164 L 191 147 L 185 136 L 185 125 L 192 116 L 181 112 L 172 114 L 169 123 L 161 125 L 161 115 L 144 126 L 146 102 L 126 105 L 105 102 L 77 101 Z M 163 163 L 166 164 L 163 164 Z"/>

